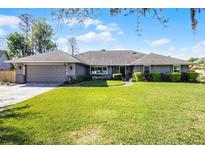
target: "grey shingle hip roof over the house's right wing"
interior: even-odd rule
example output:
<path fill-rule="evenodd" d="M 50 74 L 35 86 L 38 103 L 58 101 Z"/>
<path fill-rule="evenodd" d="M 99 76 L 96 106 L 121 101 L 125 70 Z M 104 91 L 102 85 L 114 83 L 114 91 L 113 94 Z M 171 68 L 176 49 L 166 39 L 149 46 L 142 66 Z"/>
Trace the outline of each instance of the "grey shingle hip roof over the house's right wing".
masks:
<path fill-rule="evenodd" d="M 173 58 L 170 56 L 159 55 L 155 53 L 150 53 L 130 63 L 130 65 L 173 65 L 173 64 L 190 65 L 193 63 L 190 63 L 186 60 Z"/>

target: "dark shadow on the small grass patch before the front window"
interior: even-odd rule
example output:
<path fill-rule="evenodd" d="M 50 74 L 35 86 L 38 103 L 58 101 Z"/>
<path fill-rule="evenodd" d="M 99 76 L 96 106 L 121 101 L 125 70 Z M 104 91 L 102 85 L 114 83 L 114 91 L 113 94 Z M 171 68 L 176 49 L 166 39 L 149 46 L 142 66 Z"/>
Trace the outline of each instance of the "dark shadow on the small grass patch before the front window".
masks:
<path fill-rule="evenodd" d="M 92 80 L 83 83 L 83 87 L 108 87 L 107 80 Z"/>

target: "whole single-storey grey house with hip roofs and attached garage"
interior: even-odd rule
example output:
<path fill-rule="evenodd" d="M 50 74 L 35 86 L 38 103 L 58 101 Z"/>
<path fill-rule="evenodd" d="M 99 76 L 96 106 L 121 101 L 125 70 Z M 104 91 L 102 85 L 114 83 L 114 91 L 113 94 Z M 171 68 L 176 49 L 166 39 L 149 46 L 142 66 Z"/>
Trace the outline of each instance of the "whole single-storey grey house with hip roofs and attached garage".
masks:
<path fill-rule="evenodd" d="M 159 54 L 131 50 L 88 51 L 76 56 L 56 50 L 7 61 L 17 65 L 16 81 L 64 82 L 79 75 L 111 78 L 122 73 L 128 79 L 138 72 L 188 72 L 192 63 Z"/>

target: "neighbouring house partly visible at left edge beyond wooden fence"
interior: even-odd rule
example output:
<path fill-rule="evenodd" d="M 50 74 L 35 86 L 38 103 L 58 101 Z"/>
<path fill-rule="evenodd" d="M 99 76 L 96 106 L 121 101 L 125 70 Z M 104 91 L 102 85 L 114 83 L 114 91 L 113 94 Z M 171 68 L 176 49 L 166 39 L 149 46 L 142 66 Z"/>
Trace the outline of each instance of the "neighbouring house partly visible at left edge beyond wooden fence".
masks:
<path fill-rule="evenodd" d="M 0 50 L 0 70 L 10 70 L 12 65 L 5 63 L 4 61 L 9 60 L 9 55 L 6 51 Z"/>

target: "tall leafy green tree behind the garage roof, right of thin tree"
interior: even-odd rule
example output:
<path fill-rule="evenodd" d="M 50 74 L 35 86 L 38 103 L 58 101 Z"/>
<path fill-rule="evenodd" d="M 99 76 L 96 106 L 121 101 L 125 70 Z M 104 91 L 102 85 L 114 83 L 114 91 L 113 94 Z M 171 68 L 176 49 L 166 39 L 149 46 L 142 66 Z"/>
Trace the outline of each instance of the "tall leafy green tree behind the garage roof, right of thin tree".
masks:
<path fill-rule="evenodd" d="M 48 52 L 56 48 L 53 39 L 53 29 L 42 19 L 33 21 L 32 27 L 32 50 L 35 54 Z"/>

